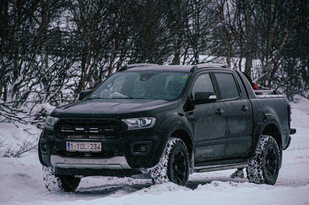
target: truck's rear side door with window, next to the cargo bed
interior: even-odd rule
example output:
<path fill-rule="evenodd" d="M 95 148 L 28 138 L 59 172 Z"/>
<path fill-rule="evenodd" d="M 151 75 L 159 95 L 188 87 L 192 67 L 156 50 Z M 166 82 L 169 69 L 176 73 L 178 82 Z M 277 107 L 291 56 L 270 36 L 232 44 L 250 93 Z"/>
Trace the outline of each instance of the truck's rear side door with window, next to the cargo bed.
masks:
<path fill-rule="evenodd" d="M 226 112 L 226 156 L 241 155 L 251 146 L 251 104 L 234 72 L 214 72 Z"/>

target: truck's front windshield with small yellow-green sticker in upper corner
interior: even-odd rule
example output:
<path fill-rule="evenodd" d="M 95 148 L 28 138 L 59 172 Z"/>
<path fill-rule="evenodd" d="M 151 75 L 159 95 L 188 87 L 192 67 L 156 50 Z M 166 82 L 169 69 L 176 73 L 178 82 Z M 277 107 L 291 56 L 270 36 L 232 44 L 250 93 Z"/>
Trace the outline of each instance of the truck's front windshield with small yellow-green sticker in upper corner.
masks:
<path fill-rule="evenodd" d="M 191 73 L 140 71 L 114 73 L 89 96 L 174 100 L 180 97 Z"/>

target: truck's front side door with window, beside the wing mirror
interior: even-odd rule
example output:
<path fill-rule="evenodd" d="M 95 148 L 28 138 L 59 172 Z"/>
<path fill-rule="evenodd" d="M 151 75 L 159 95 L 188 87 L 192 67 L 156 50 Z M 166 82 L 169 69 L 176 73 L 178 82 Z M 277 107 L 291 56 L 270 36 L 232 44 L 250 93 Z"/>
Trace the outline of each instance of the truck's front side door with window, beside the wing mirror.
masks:
<path fill-rule="evenodd" d="M 198 75 L 190 91 L 191 99 L 197 91 L 214 90 L 209 72 Z M 195 105 L 194 137 L 195 158 L 210 158 L 224 156 L 226 149 L 226 113 L 223 102 Z"/>

